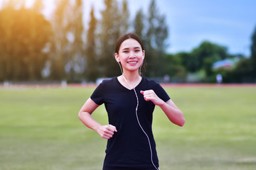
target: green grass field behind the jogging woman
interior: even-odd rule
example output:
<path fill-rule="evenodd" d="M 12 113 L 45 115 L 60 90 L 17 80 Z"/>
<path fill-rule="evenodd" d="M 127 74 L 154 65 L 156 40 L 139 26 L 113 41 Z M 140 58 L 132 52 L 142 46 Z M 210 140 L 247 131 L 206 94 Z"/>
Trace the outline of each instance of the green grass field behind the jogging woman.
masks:
<path fill-rule="evenodd" d="M 94 87 L 0 87 L 1 170 L 100 170 L 107 140 L 78 111 Z M 161 170 L 256 169 L 256 87 L 165 87 L 186 118 L 159 108 L 154 136 Z M 105 107 L 93 116 L 107 124 Z"/>

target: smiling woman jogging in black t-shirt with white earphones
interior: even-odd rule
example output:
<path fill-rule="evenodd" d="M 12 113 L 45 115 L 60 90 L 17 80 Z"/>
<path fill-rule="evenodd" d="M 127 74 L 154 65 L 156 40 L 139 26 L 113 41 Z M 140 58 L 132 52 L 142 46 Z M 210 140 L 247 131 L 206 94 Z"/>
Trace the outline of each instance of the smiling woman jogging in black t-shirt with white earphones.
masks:
<path fill-rule="evenodd" d="M 156 81 L 140 76 L 145 57 L 142 40 L 134 33 L 122 35 L 115 47 L 122 75 L 102 81 L 85 102 L 79 118 L 107 139 L 103 170 L 159 169 L 152 133 L 152 113 L 159 106 L 169 120 L 183 126 L 183 113 Z M 109 125 L 100 125 L 92 112 L 105 103 Z"/>

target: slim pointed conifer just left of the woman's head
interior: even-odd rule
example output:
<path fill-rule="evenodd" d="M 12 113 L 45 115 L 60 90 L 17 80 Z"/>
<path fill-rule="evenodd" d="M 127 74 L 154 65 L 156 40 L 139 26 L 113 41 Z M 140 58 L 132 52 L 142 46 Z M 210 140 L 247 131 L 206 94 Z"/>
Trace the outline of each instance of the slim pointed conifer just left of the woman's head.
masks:
<path fill-rule="evenodd" d="M 97 19 L 94 15 L 94 8 L 90 12 L 90 23 L 89 29 L 87 31 L 87 43 L 85 49 L 86 57 L 86 67 L 85 67 L 85 77 L 88 81 L 95 81 L 99 76 L 98 65 L 97 65 L 97 48 L 96 48 L 96 26 Z"/>

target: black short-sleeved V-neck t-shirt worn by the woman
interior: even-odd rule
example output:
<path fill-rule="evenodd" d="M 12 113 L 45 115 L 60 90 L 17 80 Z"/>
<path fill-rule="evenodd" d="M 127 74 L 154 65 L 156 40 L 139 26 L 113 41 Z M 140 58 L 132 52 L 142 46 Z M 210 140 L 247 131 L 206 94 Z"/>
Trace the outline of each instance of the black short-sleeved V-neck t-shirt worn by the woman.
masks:
<path fill-rule="evenodd" d="M 140 91 L 152 89 L 163 101 L 170 98 L 166 91 L 156 81 L 142 77 L 142 81 L 135 90 L 139 99 L 137 111 L 137 97 L 134 90 L 127 89 L 119 83 L 117 77 L 102 81 L 90 97 L 98 105 L 105 103 L 108 120 L 117 128 L 117 132 L 107 141 L 107 149 L 104 166 L 106 168 L 152 168 L 152 159 L 155 166 L 159 166 L 156 153 L 156 143 L 151 125 L 154 111 L 154 103 L 145 101 Z M 150 147 L 149 147 L 150 141 Z"/>

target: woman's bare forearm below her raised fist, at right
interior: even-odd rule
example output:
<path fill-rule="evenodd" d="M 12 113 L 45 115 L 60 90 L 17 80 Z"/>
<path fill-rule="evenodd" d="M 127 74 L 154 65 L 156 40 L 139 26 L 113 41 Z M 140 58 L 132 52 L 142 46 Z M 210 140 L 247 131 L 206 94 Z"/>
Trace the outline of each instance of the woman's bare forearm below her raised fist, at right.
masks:
<path fill-rule="evenodd" d="M 183 113 L 180 109 L 178 109 L 172 101 L 163 102 L 159 107 L 166 113 L 169 120 L 179 126 L 183 126 L 185 123 L 185 119 L 183 117 Z M 173 105 L 173 106 L 172 106 Z"/>

